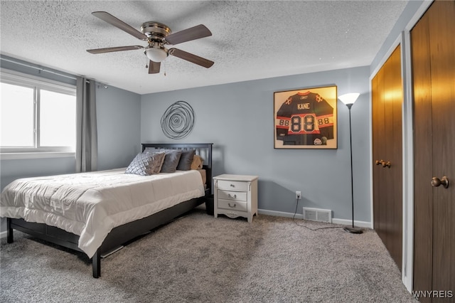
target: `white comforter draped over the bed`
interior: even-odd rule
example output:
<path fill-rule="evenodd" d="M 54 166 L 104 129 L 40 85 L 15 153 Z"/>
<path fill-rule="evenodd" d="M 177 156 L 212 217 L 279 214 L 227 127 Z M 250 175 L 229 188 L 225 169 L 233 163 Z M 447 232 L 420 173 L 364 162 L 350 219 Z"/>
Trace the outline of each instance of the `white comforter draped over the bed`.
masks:
<path fill-rule="evenodd" d="M 204 195 L 195 170 L 152 176 L 124 171 L 18 179 L 1 193 L 0 216 L 80 235 L 79 248 L 92 257 L 112 228 Z"/>

